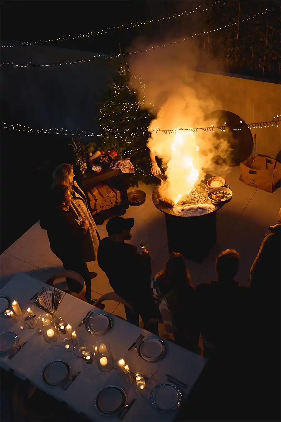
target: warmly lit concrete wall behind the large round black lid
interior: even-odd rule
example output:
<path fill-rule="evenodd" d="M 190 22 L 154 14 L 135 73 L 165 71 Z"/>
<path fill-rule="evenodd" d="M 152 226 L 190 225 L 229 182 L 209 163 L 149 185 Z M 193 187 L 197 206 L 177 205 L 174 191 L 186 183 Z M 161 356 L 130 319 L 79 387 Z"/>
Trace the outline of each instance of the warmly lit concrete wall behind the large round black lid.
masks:
<path fill-rule="evenodd" d="M 281 115 L 281 85 L 203 72 L 193 72 L 193 76 L 207 92 L 211 87 L 223 110 L 237 114 L 246 123 L 266 122 Z M 278 127 L 274 124 L 251 132 L 256 133 L 257 154 L 275 158 L 281 150 L 281 122 Z"/>

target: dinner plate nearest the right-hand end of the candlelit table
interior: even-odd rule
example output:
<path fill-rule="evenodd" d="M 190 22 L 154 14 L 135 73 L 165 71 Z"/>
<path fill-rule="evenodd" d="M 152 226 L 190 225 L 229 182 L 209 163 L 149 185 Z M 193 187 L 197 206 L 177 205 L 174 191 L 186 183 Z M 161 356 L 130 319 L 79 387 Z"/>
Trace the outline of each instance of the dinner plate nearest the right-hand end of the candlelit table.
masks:
<path fill-rule="evenodd" d="M 150 393 L 150 400 L 158 410 L 172 412 L 180 406 L 182 393 L 174 384 L 158 384 Z"/>

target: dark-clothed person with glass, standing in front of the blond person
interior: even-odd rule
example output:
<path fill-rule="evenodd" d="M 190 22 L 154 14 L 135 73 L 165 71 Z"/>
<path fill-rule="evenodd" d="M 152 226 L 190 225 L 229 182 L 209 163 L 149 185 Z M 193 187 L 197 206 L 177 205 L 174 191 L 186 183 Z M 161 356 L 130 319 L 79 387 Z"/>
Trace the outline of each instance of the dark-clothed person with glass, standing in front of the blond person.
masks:
<path fill-rule="evenodd" d="M 83 277 L 86 284 L 85 298 L 91 303 L 91 273 L 86 263 L 86 248 L 91 246 L 89 225 L 86 219 L 79 222 L 70 208 L 71 193 L 67 185 L 51 189 L 50 207 L 40 219 L 40 226 L 47 230 L 51 251 L 62 261 L 65 270 L 72 270 Z M 80 293 L 80 284 L 66 279 L 71 292 Z"/>

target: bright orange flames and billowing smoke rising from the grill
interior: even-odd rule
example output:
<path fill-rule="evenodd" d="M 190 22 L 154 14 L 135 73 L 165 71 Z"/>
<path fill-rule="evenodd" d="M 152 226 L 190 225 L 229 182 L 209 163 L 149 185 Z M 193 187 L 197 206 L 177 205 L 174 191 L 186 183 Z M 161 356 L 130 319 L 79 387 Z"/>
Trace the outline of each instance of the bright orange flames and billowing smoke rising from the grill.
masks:
<path fill-rule="evenodd" d="M 203 86 L 202 78 L 193 70 L 198 65 L 195 43 L 185 41 L 155 49 L 139 39 L 132 47 L 134 51 L 145 49 L 150 51 L 132 54 L 128 63 L 131 88 L 143 101 L 143 89 L 139 86 L 142 81 L 145 85 L 142 104 L 157 116 L 150 128 L 217 126 L 217 120 L 208 121 L 206 116 L 221 110 L 222 105 L 215 97 L 214 87 Z M 169 183 L 162 187 L 162 194 L 174 202 L 190 192 L 205 177 L 207 170 L 214 168 L 217 156 L 227 165 L 231 161 L 230 143 L 217 132 L 153 133 L 147 146 L 161 158 L 162 166 L 166 168 Z"/>

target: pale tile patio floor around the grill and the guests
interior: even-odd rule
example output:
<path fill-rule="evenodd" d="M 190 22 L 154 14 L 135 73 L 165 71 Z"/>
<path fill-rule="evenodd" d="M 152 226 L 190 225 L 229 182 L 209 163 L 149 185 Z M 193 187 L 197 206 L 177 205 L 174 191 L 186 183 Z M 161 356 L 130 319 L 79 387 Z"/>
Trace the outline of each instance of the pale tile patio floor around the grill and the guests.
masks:
<path fill-rule="evenodd" d="M 272 194 L 249 187 L 239 181 L 240 167 L 219 168 L 210 171 L 225 177 L 233 191 L 230 203 L 217 212 L 217 243 L 201 264 L 187 260 L 187 267 L 195 285 L 215 279 L 215 259 L 219 252 L 235 248 L 241 253 L 240 270 L 237 281 L 243 286 L 249 285 L 249 271 L 260 248 L 260 243 L 268 233 L 268 227 L 278 222 L 278 210 L 281 206 L 281 188 Z M 163 267 L 167 260 L 168 244 L 165 216 L 152 202 L 153 185 L 140 183 L 138 189 L 146 192 L 146 201 L 141 206 L 132 206 L 125 217 L 134 217 L 131 243 L 139 245 L 142 238 L 148 238 L 148 250 L 152 256 L 153 275 Z M 133 188 L 130 188 L 131 190 Z M 98 226 L 101 238 L 107 235 L 106 222 Z M 92 280 L 92 298 L 99 298 L 112 291 L 109 281 L 97 262 L 90 262 L 90 271 L 98 276 Z M 46 281 L 51 274 L 62 269 L 62 262 L 51 252 L 45 230 L 39 222 L 33 225 L 0 255 L 0 283 L 3 286 L 11 277 L 22 271 L 41 281 Z M 109 300 L 105 310 L 125 318 L 124 306 Z M 163 327 L 161 327 L 163 331 Z M 161 332 L 161 331 L 160 331 Z"/>

